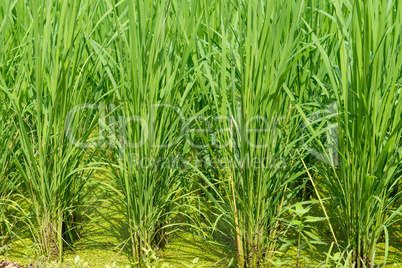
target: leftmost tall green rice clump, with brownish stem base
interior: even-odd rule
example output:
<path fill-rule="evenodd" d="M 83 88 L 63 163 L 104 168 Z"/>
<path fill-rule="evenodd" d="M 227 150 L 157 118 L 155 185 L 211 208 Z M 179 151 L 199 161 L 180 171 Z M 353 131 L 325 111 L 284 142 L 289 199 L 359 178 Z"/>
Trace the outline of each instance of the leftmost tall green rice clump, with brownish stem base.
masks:
<path fill-rule="evenodd" d="M 32 41 L 22 43 L 15 54 L 21 72 L 1 86 L 19 131 L 16 170 L 32 209 L 29 228 L 40 252 L 61 258 L 64 242 L 76 237 L 76 210 L 90 174 L 85 167 L 91 152 L 76 143 L 88 139 L 95 122 L 91 114 L 74 110 L 90 98 L 79 65 L 86 55 L 79 30 L 83 10 L 80 1 L 33 1 L 30 6 L 19 3 L 14 11 L 32 18 L 15 21 L 9 14 L 12 27 L 26 30 L 20 41 Z"/>

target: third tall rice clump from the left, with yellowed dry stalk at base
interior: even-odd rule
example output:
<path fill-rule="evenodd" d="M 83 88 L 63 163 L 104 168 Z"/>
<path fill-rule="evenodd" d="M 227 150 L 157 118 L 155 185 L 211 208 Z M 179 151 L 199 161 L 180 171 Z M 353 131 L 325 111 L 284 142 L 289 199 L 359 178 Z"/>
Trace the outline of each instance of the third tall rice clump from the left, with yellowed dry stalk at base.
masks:
<path fill-rule="evenodd" d="M 283 89 L 283 83 L 292 84 L 295 59 L 303 52 L 302 7 L 303 1 L 222 1 L 209 13 L 219 19 L 205 21 L 207 34 L 198 41 L 197 85 L 202 94 L 211 92 L 207 116 L 218 130 L 218 145 L 210 143 L 210 134 L 204 144 L 212 158 L 229 162 L 218 170 L 218 180 L 200 176 L 218 218 L 231 227 L 241 267 L 267 265 L 273 256 L 279 219 L 297 192 L 290 185 L 302 174 L 300 161 L 291 158 L 300 126 Z M 219 33 L 208 28 L 213 22 Z"/>

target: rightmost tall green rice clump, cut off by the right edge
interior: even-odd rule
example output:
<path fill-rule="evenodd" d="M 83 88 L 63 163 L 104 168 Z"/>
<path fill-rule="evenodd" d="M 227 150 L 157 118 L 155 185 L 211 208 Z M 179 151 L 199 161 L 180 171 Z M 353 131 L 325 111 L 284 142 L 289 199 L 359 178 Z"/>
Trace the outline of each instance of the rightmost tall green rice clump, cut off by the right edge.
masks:
<path fill-rule="evenodd" d="M 323 165 L 318 170 L 339 215 L 352 262 L 364 267 L 374 265 L 383 236 L 386 260 L 388 227 L 401 211 L 397 189 L 402 13 L 392 1 L 334 1 L 331 6 L 333 17 L 327 13 L 321 18 L 323 27 L 333 26 L 327 40 L 320 40 L 306 22 L 320 51 L 319 78 L 338 109 L 339 168 Z"/>

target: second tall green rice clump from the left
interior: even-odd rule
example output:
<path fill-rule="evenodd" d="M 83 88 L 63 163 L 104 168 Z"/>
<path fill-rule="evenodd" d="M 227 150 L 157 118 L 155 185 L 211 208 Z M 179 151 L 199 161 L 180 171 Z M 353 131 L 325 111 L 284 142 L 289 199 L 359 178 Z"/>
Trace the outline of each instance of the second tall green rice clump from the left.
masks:
<path fill-rule="evenodd" d="M 111 168 L 127 210 L 133 257 L 140 259 L 144 250 L 165 244 L 177 212 L 180 180 L 169 162 L 183 137 L 186 45 L 196 31 L 184 24 L 187 1 L 126 5 L 129 30 L 118 33 L 118 46 L 128 59 L 117 63 L 126 75 L 111 111 L 119 118 Z"/>

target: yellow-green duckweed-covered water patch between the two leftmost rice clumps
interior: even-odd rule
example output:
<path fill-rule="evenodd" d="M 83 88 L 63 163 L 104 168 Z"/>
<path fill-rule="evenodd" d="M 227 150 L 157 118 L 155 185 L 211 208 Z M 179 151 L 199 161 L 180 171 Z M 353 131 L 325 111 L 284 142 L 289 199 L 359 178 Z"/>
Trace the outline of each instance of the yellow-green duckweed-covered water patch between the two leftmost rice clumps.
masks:
<path fill-rule="evenodd" d="M 112 183 L 106 176 L 98 176 L 95 180 Z M 127 243 L 130 234 L 124 205 L 116 194 L 96 181 L 87 191 L 85 196 L 90 199 L 84 210 L 86 220 L 80 232 L 82 236 L 67 255 L 80 255 L 91 267 L 113 261 L 128 264 L 131 246 Z"/>

